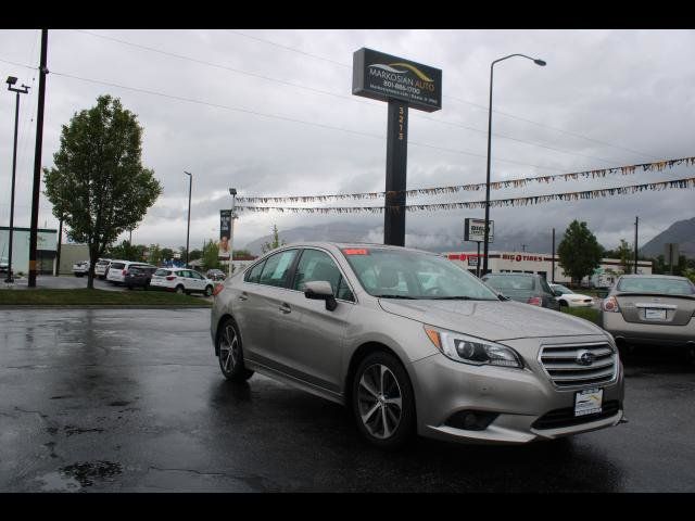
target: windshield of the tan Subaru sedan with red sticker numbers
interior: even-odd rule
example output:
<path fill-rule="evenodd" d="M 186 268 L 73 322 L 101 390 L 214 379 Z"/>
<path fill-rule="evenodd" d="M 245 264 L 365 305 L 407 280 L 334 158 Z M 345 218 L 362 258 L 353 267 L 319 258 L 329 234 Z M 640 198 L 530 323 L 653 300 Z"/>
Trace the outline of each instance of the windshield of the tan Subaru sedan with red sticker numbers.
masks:
<path fill-rule="evenodd" d="M 497 301 L 480 280 L 435 254 L 387 247 L 345 247 L 362 287 L 384 298 Z"/>

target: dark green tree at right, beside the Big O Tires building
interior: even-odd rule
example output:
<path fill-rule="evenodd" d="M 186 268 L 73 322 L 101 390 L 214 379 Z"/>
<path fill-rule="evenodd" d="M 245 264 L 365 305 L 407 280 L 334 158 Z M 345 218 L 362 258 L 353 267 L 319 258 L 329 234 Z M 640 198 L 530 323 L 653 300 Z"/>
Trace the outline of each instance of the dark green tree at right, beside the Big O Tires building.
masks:
<path fill-rule="evenodd" d="M 574 219 L 565 230 L 557 254 L 565 275 L 572 278 L 572 283 L 579 284 L 601 265 L 604 249 L 589 230 L 586 223 Z"/>

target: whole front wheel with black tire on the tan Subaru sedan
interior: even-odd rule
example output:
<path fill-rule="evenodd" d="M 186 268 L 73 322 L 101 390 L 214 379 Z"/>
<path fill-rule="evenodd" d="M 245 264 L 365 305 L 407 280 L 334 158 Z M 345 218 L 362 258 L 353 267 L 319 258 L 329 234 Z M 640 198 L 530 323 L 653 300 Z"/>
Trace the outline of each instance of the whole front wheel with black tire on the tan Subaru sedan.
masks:
<path fill-rule="evenodd" d="M 370 444 L 394 450 L 415 434 L 415 395 L 395 356 L 377 352 L 362 360 L 352 381 L 351 401 L 357 429 Z"/>

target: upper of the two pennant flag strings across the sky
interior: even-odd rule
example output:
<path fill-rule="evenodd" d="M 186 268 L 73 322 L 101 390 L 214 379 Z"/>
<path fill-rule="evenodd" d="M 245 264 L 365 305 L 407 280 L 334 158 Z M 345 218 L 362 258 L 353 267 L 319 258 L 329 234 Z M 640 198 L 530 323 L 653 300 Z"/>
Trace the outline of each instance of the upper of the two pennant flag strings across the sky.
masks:
<path fill-rule="evenodd" d="M 635 174 L 639 169 L 642 171 L 661 171 L 678 165 L 695 165 L 695 157 L 681 157 L 679 160 L 658 161 L 655 163 L 642 163 L 639 165 L 618 166 L 614 168 L 599 168 L 595 170 L 572 171 L 569 174 L 555 174 L 541 177 L 526 177 L 520 179 L 507 179 L 504 181 L 494 181 L 490 183 L 491 190 L 501 190 L 503 188 L 522 188 L 530 182 L 552 182 L 557 180 L 578 180 L 578 179 L 596 179 L 604 178 L 607 175 L 621 174 L 623 176 Z M 239 196 L 239 203 L 315 203 L 340 200 L 374 200 L 380 198 L 395 198 L 405 194 L 407 198 L 418 195 L 438 195 L 441 193 L 456 193 L 460 191 L 479 191 L 484 190 L 486 183 L 478 182 L 472 185 L 455 185 L 452 187 L 432 187 L 417 188 L 413 190 L 389 191 L 389 192 L 362 192 L 362 193 L 337 193 L 327 195 L 288 195 L 288 196 Z"/>

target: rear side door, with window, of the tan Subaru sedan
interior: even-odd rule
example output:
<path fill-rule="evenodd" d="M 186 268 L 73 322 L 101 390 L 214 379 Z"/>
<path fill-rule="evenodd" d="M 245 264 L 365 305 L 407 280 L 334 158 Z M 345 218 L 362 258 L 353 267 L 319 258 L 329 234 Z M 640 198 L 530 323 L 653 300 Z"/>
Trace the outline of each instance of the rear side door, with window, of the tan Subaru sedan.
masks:
<path fill-rule="evenodd" d="M 296 249 L 283 250 L 250 270 L 232 303 L 244 356 L 270 369 L 281 370 L 274 358 L 273 345 L 277 342 L 276 322 L 283 315 L 280 305 L 289 291 L 286 285 L 298 253 Z"/>

